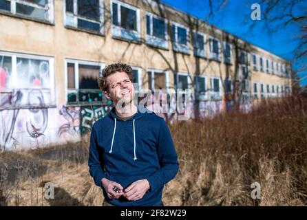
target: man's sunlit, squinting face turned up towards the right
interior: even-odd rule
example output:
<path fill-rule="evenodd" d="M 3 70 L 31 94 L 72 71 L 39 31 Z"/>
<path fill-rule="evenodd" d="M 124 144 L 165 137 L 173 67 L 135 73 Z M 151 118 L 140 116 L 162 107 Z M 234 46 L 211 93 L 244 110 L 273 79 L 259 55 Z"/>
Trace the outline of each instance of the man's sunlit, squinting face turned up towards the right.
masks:
<path fill-rule="evenodd" d="M 128 74 L 125 72 L 116 72 L 107 76 L 107 85 L 109 91 L 104 91 L 107 99 L 112 100 L 114 103 L 117 103 L 119 100 L 125 103 L 132 102 L 134 86 Z"/>

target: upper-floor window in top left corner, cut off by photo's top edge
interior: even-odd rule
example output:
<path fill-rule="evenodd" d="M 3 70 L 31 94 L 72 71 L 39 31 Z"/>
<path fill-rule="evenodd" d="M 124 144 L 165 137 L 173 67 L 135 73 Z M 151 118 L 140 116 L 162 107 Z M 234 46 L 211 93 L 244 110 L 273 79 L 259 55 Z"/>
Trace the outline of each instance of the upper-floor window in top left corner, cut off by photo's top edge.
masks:
<path fill-rule="evenodd" d="M 0 11 L 53 23 L 53 0 L 0 0 Z"/>

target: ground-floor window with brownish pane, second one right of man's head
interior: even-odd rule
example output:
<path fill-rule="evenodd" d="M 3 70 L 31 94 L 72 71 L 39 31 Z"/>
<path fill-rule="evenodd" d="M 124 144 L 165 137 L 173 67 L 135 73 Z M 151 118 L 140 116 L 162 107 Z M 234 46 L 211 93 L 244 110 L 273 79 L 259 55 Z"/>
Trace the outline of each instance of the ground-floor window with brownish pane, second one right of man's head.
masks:
<path fill-rule="evenodd" d="M 149 70 L 148 74 L 148 88 L 151 91 L 154 89 L 167 89 L 167 74 L 159 70 Z"/>

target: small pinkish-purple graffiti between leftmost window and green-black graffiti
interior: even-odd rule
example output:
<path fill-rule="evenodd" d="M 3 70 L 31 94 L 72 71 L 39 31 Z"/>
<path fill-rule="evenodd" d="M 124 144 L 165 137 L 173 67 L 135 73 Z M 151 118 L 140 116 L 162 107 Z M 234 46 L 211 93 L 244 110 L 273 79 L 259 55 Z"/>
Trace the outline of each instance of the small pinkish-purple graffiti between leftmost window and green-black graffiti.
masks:
<path fill-rule="evenodd" d="M 79 133 L 79 109 L 76 107 L 65 107 L 64 105 L 59 110 L 59 114 L 65 118 L 66 122 L 59 127 L 58 135 L 61 137 L 65 133 L 72 136 Z"/>

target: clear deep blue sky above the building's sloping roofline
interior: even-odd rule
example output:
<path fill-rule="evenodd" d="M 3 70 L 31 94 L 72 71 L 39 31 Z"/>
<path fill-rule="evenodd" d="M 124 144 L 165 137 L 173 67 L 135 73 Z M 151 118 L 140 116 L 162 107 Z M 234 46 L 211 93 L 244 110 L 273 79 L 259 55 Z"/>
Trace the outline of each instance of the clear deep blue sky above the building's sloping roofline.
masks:
<path fill-rule="evenodd" d="M 219 10 L 217 7 L 220 5 L 218 2 L 222 0 L 213 1 L 213 17 L 209 17 L 209 0 L 161 0 L 167 5 L 171 5 L 174 8 L 178 8 L 184 12 L 192 14 L 199 19 L 209 21 L 209 23 L 215 25 L 218 28 L 222 28 L 231 34 L 241 37 L 242 39 L 253 43 L 259 47 L 264 48 L 270 52 L 273 52 L 277 56 L 286 58 L 289 61 L 293 61 L 294 50 L 298 45 L 297 36 L 299 35 L 299 28 L 296 25 L 288 25 L 286 28 L 278 28 L 274 32 L 268 32 L 264 28 L 265 21 L 262 17 L 260 21 L 253 21 L 251 19 L 251 4 L 252 1 L 242 0 L 229 0 L 225 1 L 223 8 Z M 253 1 L 253 3 L 257 1 Z M 302 3 L 307 5 L 307 1 Z M 261 6 L 261 5 L 260 5 Z M 300 9 L 295 9 L 299 12 Z M 263 10 L 262 10 L 263 11 Z M 248 31 L 248 27 L 255 23 L 253 31 Z M 293 67 L 297 68 L 300 63 L 293 62 Z M 307 76 L 306 72 L 300 74 L 301 78 Z M 301 80 L 301 85 L 307 85 L 307 78 Z"/>

